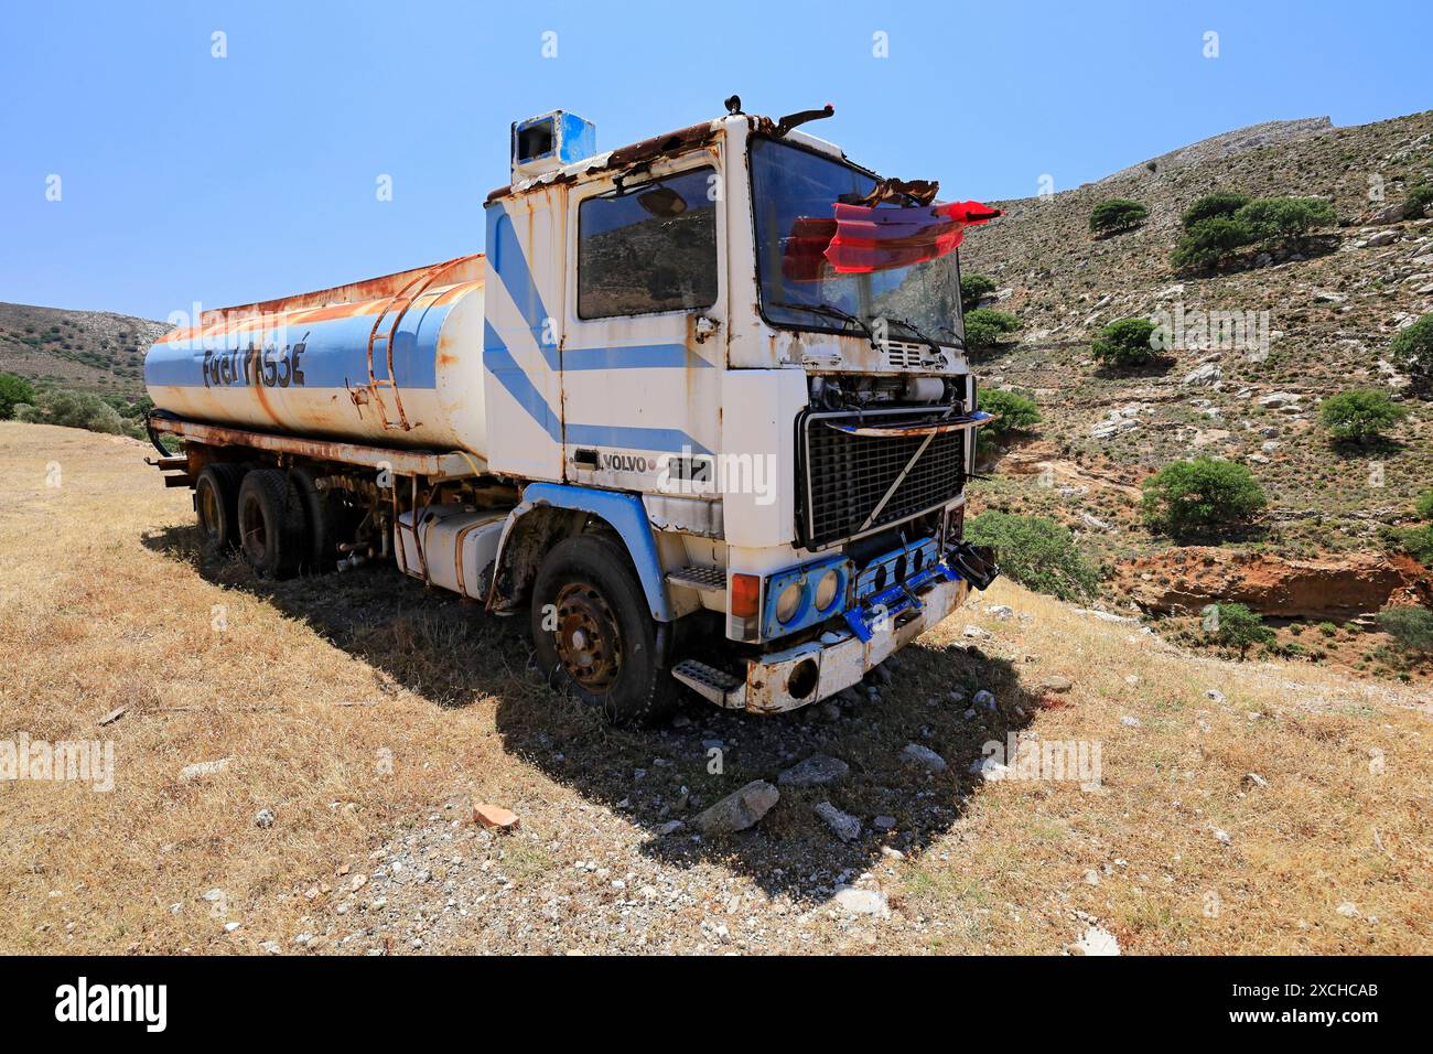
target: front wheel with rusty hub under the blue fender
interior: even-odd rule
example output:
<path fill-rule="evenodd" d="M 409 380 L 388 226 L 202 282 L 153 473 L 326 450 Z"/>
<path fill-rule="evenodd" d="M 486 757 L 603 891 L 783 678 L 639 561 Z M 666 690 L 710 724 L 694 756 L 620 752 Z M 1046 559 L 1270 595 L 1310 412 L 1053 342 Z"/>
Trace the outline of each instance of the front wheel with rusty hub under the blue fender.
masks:
<path fill-rule="evenodd" d="M 668 713 L 676 681 L 626 549 L 577 535 L 552 548 L 532 598 L 537 665 L 559 691 L 635 724 Z"/>

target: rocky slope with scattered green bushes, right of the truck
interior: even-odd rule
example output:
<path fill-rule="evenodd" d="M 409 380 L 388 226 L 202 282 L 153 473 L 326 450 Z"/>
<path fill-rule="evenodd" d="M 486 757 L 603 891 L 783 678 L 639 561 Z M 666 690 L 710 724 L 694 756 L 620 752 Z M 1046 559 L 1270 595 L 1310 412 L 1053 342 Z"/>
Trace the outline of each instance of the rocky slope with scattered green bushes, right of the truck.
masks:
<path fill-rule="evenodd" d="M 1171 545 L 1139 522 L 1141 480 L 1171 460 L 1211 455 L 1247 463 L 1268 495 L 1261 522 L 1231 548 L 1274 559 L 1377 551 L 1380 526 L 1410 521 L 1414 496 L 1433 485 L 1433 407 L 1407 394 L 1386 361 L 1393 334 L 1433 311 L 1433 219 L 1391 215 L 1409 186 L 1430 179 L 1426 112 L 1354 128 L 1323 118 L 1258 125 L 1073 191 L 999 202 L 1006 217 L 972 231 L 963 268 L 990 275 L 999 287 L 990 305 L 1023 328 L 977 367 L 984 384 L 1032 394 L 1043 422 L 993 452 L 995 479 L 980 499 L 1069 523 L 1118 579 L 1121 561 Z M 1317 232 L 1303 254 L 1176 274 L 1181 212 L 1217 189 L 1323 196 L 1338 227 Z M 1116 196 L 1144 204 L 1148 219 L 1092 235 L 1092 208 Z M 1245 328 L 1221 340 L 1214 313 Z M 1156 315 L 1185 321 L 1185 340 L 1159 366 L 1096 366 L 1091 340 L 1101 327 Z M 1324 437 L 1318 403 L 1350 387 L 1386 389 L 1410 412 L 1389 442 L 1351 452 Z M 1407 587 L 1406 575 L 1381 568 L 1380 581 Z M 1141 572 L 1146 584 L 1161 576 Z"/>

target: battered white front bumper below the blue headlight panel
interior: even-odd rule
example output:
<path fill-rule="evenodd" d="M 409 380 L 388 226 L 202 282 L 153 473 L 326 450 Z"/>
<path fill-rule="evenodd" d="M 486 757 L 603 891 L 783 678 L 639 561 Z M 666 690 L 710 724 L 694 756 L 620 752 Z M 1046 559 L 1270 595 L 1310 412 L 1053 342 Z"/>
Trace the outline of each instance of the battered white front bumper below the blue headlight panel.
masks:
<path fill-rule="evenodd" d="M 818 703 L 860 683 L 893 652 L 964 604 L 970 584 L 963 578 L 937 579 L 916 591 L 911 607 L 870 631 L 861 640 L 850 628 L 831 630 L 820 640 L 798 644 L 747 661 L 742 681 L 699 663 L 682 663 L 674 674 L 699 694 L 729 710 L 772 714 Z"/>

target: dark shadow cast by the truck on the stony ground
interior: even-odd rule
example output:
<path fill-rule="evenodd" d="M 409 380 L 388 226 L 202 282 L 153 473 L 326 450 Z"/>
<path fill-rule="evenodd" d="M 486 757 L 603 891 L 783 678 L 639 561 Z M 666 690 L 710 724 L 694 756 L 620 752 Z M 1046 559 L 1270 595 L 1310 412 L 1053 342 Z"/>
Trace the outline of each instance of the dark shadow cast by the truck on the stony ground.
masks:
<path fill-rule="evenodd" d="M 982 784 L 972 767 L 984 746 L 1005 744 L 1042 706 L 1009 661 L 962 640 L 917 642 L 844 697 L 790 714 L 728 713 L 691 694 L 658 726 L 613 728 L 546 687 L 532 665 L 526 619 L 489 617 L 393 566 L 264 582 L 239 561 L 201 559 L 195 528 L 143 541 L 208 581 L 262 597 L 434 706 L 492 697 L 507 749 L 642 827 L 651 858 L 716 863 L 797 901 L 825 899 L 874 866 L 884 846 L 919 855 L 950 830 Z M 974 704 L 982 688 L 993 707 Z M 911 743 L 947 767 L 930 771 L 904 757 Z M 782 770 L 815 754 L 850 771 L 825 786 L 780 786 Z M 780 786 L 775 807 L 749 830 L 698 836 L 691 819 L 751 780 Z M 857 817 L 860 835 L 837 837 L 814 812 L 823 802 Z"/>

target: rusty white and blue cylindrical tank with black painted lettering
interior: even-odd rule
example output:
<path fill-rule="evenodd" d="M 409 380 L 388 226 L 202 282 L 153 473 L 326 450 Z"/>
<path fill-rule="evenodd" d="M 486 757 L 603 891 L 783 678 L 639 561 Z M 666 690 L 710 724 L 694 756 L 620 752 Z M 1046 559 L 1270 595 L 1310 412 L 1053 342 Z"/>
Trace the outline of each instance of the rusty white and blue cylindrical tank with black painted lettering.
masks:
<path fill-rule="evenodd" d="M 410 274 L 328 291 L 365 297 L 350 303 L 304 294 L 206 314 L 149 348 L 149 397 L 208 424 L 486 457 L 480 271 L 406 300 Z"/>

